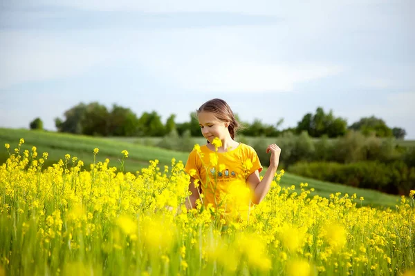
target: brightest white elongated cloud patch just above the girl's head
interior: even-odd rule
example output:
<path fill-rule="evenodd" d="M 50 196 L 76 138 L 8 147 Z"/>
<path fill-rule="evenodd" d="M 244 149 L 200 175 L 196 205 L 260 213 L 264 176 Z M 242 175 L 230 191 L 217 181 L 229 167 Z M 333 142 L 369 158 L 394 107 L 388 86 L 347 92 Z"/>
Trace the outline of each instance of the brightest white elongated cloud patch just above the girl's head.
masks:
<path fill-rule="evenodd" d="M 202 70 L 192 68 L 175 72 L 174 80 L 183 89 L 202 92 L 289 92 L 298 83 L 335 75 L 341 70 L 338 66 L 269 65 L 237 60 L 205 64 Z"/>

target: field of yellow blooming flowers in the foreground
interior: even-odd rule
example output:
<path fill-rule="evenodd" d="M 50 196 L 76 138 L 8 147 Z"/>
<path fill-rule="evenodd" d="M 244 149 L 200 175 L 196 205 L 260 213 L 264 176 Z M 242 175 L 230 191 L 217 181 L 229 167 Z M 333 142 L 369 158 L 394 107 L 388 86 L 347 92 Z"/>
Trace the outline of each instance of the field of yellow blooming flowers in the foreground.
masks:
<path fill-rule="evenodd" d="M 394 208 L 360 195 L 279 186 L 239 219 L 198 204 L 172 159 L 123 172 L 65 155 L 6 148 L 0 166 L 0 275 L 414 275 L 415 190 Z M 218 164 L 220 166 L 220 164 Z"/>

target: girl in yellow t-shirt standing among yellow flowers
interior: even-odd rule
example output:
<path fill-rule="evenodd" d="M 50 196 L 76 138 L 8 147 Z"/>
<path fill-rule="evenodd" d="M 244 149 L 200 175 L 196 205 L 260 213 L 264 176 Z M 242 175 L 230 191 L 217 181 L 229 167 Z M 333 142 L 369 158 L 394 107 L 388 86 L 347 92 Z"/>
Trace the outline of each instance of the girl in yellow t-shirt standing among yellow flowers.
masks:
<path fill-rule="evenodd" d="M 212 99 L 197 110 L 202 135 L 208 140 L 204 146 L 196 145 L 190 152 L 185 171 L 190 175 L 190 200 L 187 209 L 196 208 L 200 199 L 205 207 L 222 208 L 226 214 L 241 215 L 251 205 L 259 204 L 268 193 L 271 181 L 277 171 L 281 149 L 271 144 L 270 166 L 263 179 L 257 152 L 242 143 L 234 141 L 239 127 L 228 103 Z"/>

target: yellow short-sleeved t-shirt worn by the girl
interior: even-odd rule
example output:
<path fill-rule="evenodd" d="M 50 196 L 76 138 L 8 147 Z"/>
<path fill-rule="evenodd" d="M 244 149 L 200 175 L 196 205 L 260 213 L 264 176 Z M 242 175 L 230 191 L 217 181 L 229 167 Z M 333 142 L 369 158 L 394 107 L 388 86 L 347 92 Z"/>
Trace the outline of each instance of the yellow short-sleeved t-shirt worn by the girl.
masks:
<path fill-rule="evenodd" d="M 254 148 L 240 143 L 228 152 L 214 152 L 208 146 L 194 149 L 185 172 L 199 180 L 203 204 L 224 208 L 225 213 L 248 210 L 251 194 L 246 179 L 262 166 Z"/>

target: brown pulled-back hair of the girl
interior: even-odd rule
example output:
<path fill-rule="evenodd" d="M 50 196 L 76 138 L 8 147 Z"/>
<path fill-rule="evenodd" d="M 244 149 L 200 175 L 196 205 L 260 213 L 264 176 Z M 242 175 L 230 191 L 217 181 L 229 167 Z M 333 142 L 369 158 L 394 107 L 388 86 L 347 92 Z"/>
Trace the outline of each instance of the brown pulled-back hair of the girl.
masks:
<path fill-rule="evenodd" d="M 229 121 L 228 130 L 230 137 L 234 139 L 235 134 L 241 125 L 235 119 L 232 109 L 230 109 L 226 101 L 223 101 L 223 99 L 211 99 L 210 101 L 206 101 L 198 110 L 196 110 L 196 113 L 199 114 L 202 111 L 214 113 L 216 118 L 221 121 Z"/>

